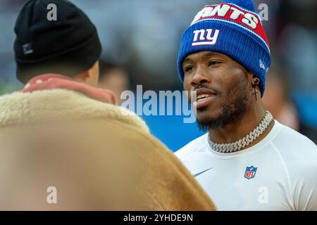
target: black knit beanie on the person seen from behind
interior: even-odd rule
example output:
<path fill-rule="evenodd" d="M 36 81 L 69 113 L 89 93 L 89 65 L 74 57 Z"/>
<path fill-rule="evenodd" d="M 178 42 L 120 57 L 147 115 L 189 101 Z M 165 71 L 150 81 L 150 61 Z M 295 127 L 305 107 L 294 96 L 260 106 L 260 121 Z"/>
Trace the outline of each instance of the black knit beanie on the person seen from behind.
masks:
<path fill-rule="evenodd" d="M 56 20 L 47 18 L 49 4 L 56 5 Z M 101 55 L 96 27 L 67 0 L 27 1 L 15 34 L 17 78 L 23 83 L 44 73 L 73 77 L 92 68 Z"/>

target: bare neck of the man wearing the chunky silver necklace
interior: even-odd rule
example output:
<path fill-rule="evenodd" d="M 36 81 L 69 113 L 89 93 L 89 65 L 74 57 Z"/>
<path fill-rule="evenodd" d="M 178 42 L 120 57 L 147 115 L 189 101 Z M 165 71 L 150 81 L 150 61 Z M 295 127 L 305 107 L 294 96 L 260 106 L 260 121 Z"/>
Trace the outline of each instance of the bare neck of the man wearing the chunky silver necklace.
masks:
<path fill-rule="evenodd" d="M 239 120 L 236 122 L 232 124 L 226 124 L 223 127 L 216 129 L 210 129 L 209 136 L 211 136 L 211 141 L 215 143 L 232 143 L 242 139 L 259 125 L 261 120 L 263 120 L 265 113 L 266 110 L 262 104 L 249 108 L 247 112 L 241 115 Z M 259 141 L 261 141 L 271 131 L 273 124 L 274 121 L 271 122 L 263 134 L 261 134 L 256 140 L 254 140 L 251 144 L 249 144 L 249 146 L 246 146 L 245 148 L 249 148 L 254 146 L 256 143 L 259 143 Z"/>

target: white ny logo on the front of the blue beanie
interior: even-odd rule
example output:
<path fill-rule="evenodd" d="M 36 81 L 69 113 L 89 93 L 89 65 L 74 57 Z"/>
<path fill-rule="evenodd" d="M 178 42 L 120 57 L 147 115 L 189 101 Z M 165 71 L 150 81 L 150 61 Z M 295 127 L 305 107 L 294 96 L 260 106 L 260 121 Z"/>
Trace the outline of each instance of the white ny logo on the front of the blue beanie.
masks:
<path fill-rule="evenodd" d="M 217 39 L 218 39 L 219 30 L 215 30 L 215 32 L 213 33 L 213 36 L 211 36 L 212 32 L 213 32 L 212 29 L 195 30 L 194 31 L 194 40 L 192 41 L 192 46 L 216 44 Z M 199 37 L 199 39 L 198 39 L 198 37 Z"/>

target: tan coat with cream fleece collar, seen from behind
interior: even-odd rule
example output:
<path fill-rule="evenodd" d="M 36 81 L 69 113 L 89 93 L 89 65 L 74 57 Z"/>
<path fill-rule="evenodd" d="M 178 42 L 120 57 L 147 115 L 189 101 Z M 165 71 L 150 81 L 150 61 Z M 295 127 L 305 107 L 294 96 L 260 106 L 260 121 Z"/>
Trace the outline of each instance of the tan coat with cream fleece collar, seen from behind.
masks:
<path fill-rule="evenodd" d="M 0 210 L 215 207 L 139 117 L 55 89 L 0 97 Z"/>

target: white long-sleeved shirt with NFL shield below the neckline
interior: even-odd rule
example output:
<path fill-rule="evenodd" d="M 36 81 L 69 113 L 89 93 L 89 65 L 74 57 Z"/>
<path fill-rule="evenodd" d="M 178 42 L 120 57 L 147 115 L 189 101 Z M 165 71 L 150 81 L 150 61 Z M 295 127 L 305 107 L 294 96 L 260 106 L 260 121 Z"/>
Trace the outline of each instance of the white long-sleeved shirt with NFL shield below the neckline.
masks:
<path fill-rule="evenodd" d="M 208 133 L 175 155 L 218 210 L 317 210 L 317 146 L 275 120 L 259 143 L 217 153 Z"/>

